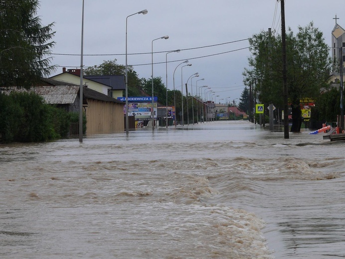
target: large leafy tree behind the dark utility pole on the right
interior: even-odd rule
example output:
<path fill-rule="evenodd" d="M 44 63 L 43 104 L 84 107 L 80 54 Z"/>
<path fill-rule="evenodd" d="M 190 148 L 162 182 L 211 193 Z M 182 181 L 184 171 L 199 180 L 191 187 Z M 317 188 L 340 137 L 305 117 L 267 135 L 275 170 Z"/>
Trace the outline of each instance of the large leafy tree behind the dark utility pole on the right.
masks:
<path fill-rule="evenodd" d="M 248 58 L 251 69 L 243 72 L 245 82 L 258 82 L 255 92 L 261 103 L 283 107 L 282 46 L 281 35 L 261 31 L 249 40 L 252 56 Z M 303 98 L 316 99 L 321 89 L 328 88 L 329 69 L 332 62 L 323 33 L 313 22 L 298 27 L 294 35 L 291 28 L 286 35 L 287 80 L 289 103 L 292 108 L 292 132 L 300 131 Z"/>

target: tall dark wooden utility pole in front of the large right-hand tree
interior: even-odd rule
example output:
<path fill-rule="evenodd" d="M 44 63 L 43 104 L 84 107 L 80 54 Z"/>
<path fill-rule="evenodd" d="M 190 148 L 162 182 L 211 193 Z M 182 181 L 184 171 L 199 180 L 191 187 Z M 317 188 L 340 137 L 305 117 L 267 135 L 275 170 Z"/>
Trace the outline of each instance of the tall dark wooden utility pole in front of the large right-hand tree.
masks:
<path fill-rule="evenodd" d="M 281 40 L 282 40 L 282 47 L 283 47 L 284 138 L 289 138 L 289 108 L 288 108 L 287 76 L 286 76 L 286 35 L 285 35 L 284 0 L 280 0 L 280 8 L 281 8 Z"/>

